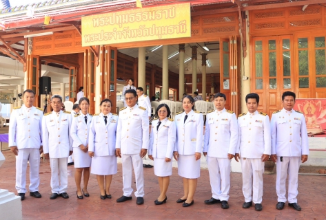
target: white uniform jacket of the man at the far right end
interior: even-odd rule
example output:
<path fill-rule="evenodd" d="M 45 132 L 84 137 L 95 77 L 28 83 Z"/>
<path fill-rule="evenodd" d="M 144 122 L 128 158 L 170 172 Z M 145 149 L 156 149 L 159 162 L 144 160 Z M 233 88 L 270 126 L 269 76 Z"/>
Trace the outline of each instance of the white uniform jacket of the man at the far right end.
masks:
<path fill-rule="evenodd" d="M 272 115 L 272 154 L 281 157 L 309 155 L 307 126 L 303 113 L 282 109 Z M 299 135 L 300 134 L 300 135 Z"/>

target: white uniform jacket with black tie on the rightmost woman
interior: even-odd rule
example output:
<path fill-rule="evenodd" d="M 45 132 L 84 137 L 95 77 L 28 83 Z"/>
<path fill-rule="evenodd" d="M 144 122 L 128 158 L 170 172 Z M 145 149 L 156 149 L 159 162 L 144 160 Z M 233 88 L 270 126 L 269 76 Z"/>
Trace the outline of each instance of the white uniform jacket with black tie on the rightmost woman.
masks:
<path fill-rule="evenodd" d="M 180 155 L 201 153 L 203 146 L 203 115 L 192 110 L 187 114 L 187 120 L 184 122 L 185 115 L 185 112 L 179 113 L 174 118 L 178 127 L 174 151 L 178 151 Z"/>

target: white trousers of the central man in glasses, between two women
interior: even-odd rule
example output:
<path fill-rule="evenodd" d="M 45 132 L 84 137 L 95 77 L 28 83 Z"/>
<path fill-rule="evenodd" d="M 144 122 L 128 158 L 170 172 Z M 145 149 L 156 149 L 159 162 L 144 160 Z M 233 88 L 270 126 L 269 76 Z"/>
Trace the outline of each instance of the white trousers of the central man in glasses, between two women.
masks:
<path fill-rule="evenodd" d="M 143 159 L 139 154 L 123 154 L 122 156 L 123 195 L 132 196 L 132 168 L 136 179 L 135 197 L 144 197 Z"/>

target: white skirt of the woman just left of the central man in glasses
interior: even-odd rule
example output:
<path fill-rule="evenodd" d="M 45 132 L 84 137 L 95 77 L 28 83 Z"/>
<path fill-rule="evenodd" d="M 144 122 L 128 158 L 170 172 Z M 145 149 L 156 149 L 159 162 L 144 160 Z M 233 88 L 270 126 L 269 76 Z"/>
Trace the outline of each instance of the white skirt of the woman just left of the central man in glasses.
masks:
<path fill-rule="evenodd" d="M 92 169 L 90 173 L 96 175 L 113 175 L 118 172 L 116 156 L 102 156 L 92 158 Z"/>

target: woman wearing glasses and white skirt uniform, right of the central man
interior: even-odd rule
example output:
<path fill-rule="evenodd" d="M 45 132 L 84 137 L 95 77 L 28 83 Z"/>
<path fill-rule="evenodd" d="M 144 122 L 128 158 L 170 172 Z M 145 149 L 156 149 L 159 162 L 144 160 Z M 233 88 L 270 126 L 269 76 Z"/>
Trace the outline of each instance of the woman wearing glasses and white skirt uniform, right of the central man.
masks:
<path fill-rule="evenodd" d="M 159 177 L 160 195 L 154 203 L 161 205 L 166 202 L 167 188 L 172 175 L 172 157 L 174 144 L 176 142 L 176 124 L 169 118 L 171 111 L 167 104 L 160 104 L 156 109 L 150 132 L 150 146 L 148 147 L 148 157 L 154 160 L 154 173 Z"/>

